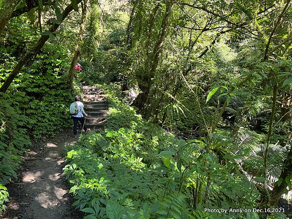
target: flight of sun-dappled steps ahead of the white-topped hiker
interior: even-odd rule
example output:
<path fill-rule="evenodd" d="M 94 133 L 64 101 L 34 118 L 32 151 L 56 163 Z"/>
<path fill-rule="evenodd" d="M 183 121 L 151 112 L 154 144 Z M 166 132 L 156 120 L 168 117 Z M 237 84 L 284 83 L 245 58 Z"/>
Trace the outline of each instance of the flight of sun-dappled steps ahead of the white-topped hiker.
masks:
<path fill-rule="evenodd" d="M 85 125 L 91 130 L 103 128 L 107 116 L 108 104 L 103 91 L 94 86 L 82 84 L 84 110 L 88 114 Z"/>

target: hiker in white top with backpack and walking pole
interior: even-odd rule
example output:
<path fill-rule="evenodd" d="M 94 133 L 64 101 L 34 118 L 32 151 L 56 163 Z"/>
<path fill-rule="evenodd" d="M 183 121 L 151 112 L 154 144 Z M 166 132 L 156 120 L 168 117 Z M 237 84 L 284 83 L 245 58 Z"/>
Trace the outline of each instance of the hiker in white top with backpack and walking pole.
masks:
<path fill-rule="evenodd" d="M 86 117 L 88 116 L 85 111 L 83 110 L 83 103 L 80 102 L 81 97 L 80 96 L 75 96 L 75 102 L 71 104 L 70 107 L 70 111 L 71 111 L 71 115 L 73 118 L 73 122 L 74 122 L 74 128 L 73 128 L 73 132 L 74 132 L 74 138 L 77 138 L 77 125 L 78 125 L 78 121 L 80 121 L 81 125 L 83 126 L 83 129 L 85 131 L 85 133 L 90 131 L 90 128 L 87 128 L 85 126 L 85 119 L 83 117 L 83 115 L 85 115 Z M 72 107 L 74 107 L 75 113 L 72 113 Z"/>

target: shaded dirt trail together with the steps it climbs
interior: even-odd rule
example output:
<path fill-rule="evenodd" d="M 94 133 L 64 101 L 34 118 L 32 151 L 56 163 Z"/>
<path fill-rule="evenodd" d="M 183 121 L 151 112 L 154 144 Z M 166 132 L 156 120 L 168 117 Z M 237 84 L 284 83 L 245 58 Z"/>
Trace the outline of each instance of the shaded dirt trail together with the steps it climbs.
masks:
<path fill-rule="evenodd" d="M 103 127 L 107 112 L 101 89 L 82 86 L 86 125 L 91 129 Z M 81 126 L 79 127 L 80 133 Z M 72 207 L 70 186 L 62 176 L 65 146 L 73 145 L 73 130 L 56 133 L 54 138 L 33 142 L 25 154 L 18 172 L 18 181 L 7 186 L 10 202 L 3 219 L 80 219 L 81 212 Z"/>

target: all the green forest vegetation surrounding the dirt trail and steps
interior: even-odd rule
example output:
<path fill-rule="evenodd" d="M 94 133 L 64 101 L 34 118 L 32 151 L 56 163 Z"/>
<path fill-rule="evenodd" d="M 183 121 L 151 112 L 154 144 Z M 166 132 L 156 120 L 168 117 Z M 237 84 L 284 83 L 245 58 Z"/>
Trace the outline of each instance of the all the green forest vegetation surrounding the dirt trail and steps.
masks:
<path fill-rule="evenodd" d="M 291 58 L 291 0 L 0 0 L 0 210 L 86 82 L 110 110 L 67 148 L 85 218 L 291 216 Z"/>

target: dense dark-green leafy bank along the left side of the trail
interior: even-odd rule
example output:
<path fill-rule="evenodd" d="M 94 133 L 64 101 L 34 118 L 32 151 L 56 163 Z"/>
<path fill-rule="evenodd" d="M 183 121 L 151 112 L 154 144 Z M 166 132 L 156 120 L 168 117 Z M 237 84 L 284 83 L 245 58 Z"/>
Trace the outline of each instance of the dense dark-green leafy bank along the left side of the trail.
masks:
<path fill-rule="evenodd" d="M 9 47 L 1 48 L 1 79 L 16 65 L 15 58 L 7 55 L 11 51 Z M 23 68 L 10 89 L 0 93 L 0 211 L 8 198 L 3 185 L 17 177 L 20 156 L 31 145 L 31 139 L 54 136 L 72 123 L 69 106 L 73 95 L 66 83 L 67 54 L 60 48 L 56 51 L 38 54 Z"/>

